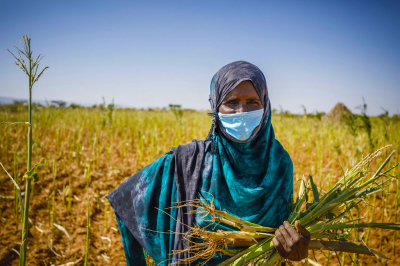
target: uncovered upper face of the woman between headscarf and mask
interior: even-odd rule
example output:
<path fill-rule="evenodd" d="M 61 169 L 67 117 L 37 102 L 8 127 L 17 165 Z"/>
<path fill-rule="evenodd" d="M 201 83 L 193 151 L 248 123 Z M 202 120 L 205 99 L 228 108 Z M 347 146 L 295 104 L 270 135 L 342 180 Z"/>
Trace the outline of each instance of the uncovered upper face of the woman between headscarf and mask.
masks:
<path fill-rule="evenodd" d="M 263 109 L 263 106 L 254 89 L 253 82 L 245 80 L 226 95 L 218 111 L 222 114 L 235 114 L 259 109 Z"/>

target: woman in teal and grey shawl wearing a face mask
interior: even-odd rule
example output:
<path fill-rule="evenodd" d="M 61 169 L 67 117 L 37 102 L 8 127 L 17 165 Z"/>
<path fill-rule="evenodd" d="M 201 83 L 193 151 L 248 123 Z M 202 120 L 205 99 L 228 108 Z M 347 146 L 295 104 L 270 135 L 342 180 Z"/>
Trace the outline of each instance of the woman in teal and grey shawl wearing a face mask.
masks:
<path fill-rule="evenodd" d="M 185 225 L 206 226 L 187 214 L 192 209 L 166 209 L 201 193 L 216 208 L 247 221 L 276 227 L 273 244 L 282 257 L 307 257 L 309 232 L 285 219 L 293 193 L 293 165 L 275 140 L 267 84 L 261 70 L 244 61 L 221 68 L 211 81 L 213 124 L 206 140 L 172 148 L 128 178 L 110 195 L 128 265 L 146 265 L 142 248 L 156 264 L 189 258 L 183 250 Z M 160 212 L 165 210 L 170 216 Z M 226 230 L 218 225 L 215 230 Z M 165 234 L 163 232 L 176 232 Z M 226 257 L 214 258 L 217 265 Z"/>

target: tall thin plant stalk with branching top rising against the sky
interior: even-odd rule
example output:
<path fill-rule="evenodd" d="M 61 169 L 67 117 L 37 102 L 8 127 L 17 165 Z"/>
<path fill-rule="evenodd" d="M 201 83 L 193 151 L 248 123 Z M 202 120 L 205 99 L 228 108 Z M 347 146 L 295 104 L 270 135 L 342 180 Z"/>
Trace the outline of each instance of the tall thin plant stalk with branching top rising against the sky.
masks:
<path fill-rule="evenodd" d="M 40 61 L 43 59 L 44 55 L 39 54 L 36 60 L 32 57 L 31 50 L 31 36 L 22 35 L 22 40 L 24 41 L 23 50 L 14 46 L 17 49 L 18 57 L 16 57 L 10 50 L 8 50 L 12 56 L 15 58 L 15 64 L 19 66 L 19 68 L 28 76 L 29 79 L 29 123 L 28 123 L 28 162 L 27 162 L 27 172 L 23 176 L 23 179 L 26 178 L 25 185 L 25 208 L 21 207 L 21 216 L 22 216 L 22 244 L 20 250 L 20 266 L 24 266 L 26 263 L 26 247 L 27 247 L 27 237 L 28 237 L 28 214 L 29 214 L 29 199 L 31 195 L 31 182 L 32 179 L 34 182 L 39 180 L 38 175 L 36 173 L 36 169 L 39 165 L 36 164 L 32 168 L 32 87 L 39 80 L 40 76 L 43 72 L 49 67 L 46 66 L 39 71 Z M 21 42 L 20 40 L 19 42 Z M 26 57 L 27 63 L 25 63 L 22 55 Z"/>

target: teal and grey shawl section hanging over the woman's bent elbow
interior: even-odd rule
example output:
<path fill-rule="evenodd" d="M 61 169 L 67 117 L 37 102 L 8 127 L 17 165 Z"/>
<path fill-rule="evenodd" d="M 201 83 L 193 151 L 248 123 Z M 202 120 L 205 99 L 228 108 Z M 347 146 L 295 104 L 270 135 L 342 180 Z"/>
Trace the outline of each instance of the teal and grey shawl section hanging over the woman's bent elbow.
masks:
<path fill-rule="evenodd" d="M 129 177 L 107 199 L 117 218 L 129 266 L 146 265 L 140 247 L 156 263 L 168 258 L 174 241 L 174 235 L 168 232 L 175 231 L 176 222 L 158 209 L 164 210 L 177 201 L 173 154 L 158 158 Z M 177 216 L 176 209 L 165 211 Z"/>

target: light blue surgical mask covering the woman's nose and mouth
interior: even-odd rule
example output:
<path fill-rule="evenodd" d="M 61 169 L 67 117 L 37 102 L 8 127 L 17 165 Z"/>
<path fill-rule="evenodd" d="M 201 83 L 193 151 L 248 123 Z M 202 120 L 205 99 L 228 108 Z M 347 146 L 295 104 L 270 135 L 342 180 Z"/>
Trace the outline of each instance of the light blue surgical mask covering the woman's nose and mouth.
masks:
<path fill-rule="evenodd" d="M 263 114 L 264 109 L 260 109 L 238 114 L 218 113 L 218 116 L 229 135 L 237 140 L 246 140 L 250 138 L 254 129 L 260 124 Z"/>

